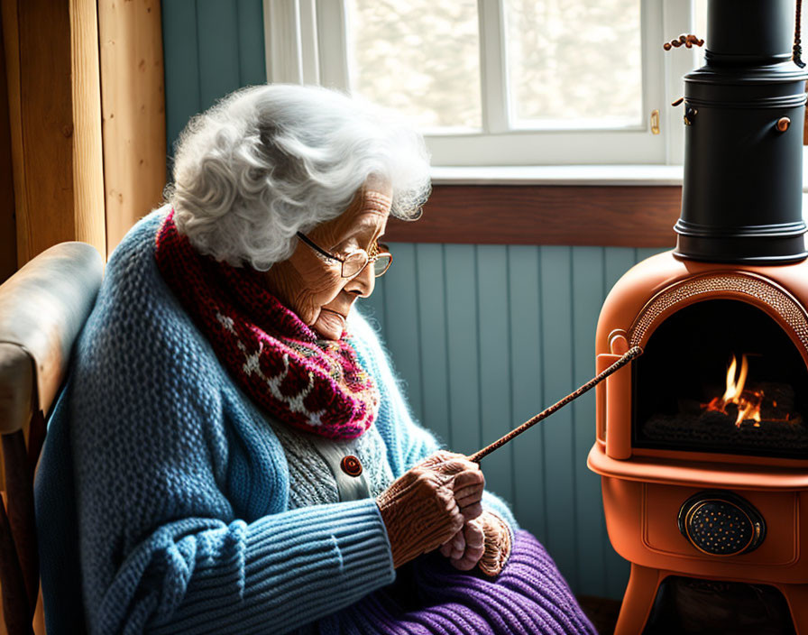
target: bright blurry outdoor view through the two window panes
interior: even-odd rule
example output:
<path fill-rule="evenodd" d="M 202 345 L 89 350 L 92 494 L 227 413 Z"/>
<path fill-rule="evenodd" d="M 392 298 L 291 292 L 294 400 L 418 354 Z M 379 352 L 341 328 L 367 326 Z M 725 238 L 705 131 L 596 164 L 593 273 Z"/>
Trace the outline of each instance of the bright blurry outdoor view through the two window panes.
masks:
<path fill-rule="evenodd" d="M 642 123 L 639 0 L 503 1 L 511 127 Z M 355 92 L 425 130 L 482 128 L 474 0 L 350 0 L 347 23 Z"/>

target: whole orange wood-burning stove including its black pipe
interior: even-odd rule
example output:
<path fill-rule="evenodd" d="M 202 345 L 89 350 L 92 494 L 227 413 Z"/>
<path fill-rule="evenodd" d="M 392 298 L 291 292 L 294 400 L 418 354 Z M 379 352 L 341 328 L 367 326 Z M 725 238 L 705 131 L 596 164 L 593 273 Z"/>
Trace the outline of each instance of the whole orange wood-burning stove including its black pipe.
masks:
<path fill-rule="evenodd" d="M 618 635 L 643 631 L 665 580 L 767 589 L 783 631 L 808 634 L 808 75 L 792 10 L 710 0 L 707 65 L 685 77 L 677 247 L 601 310 L 599 373 L 644 350 L 598 386 L 588 461 L 631 563 Z"/>

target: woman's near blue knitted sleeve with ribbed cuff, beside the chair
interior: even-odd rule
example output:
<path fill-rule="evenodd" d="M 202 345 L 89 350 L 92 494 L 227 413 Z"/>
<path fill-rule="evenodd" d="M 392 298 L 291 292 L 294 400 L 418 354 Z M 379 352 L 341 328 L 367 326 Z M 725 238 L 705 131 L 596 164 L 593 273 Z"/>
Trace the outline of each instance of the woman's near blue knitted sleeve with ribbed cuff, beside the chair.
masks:
<path fill-rule="evenodd" d="M 120 261 L 109 276 L 134 266 Z M 71 380 L 90 632 L 280 634 L 390 584 L 376 503 L 285 511 L 277 441 L 190 323 L 124 280 L 102 291 Z"/>

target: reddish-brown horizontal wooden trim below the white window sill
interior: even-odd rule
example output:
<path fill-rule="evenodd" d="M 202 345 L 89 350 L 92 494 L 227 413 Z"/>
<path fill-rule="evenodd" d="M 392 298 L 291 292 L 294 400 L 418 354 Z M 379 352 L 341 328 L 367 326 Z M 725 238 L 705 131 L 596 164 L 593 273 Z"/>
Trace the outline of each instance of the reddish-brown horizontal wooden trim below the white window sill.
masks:
<path fill-rule="evenodd" d="M 401 243 L 673 247 L 680 186 L 436 186 L 415 223 L 390 218 Z"/>

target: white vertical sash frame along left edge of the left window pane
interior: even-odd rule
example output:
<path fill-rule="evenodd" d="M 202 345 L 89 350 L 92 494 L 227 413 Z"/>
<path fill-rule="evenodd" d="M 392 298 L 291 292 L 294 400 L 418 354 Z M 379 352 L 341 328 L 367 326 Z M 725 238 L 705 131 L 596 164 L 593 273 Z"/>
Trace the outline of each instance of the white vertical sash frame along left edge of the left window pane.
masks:
<path fill-rule="evenodd" d="M 320 83 L 349 90 L 348 24 L 342 0 L 317 1 L 317 35 Z"/>

